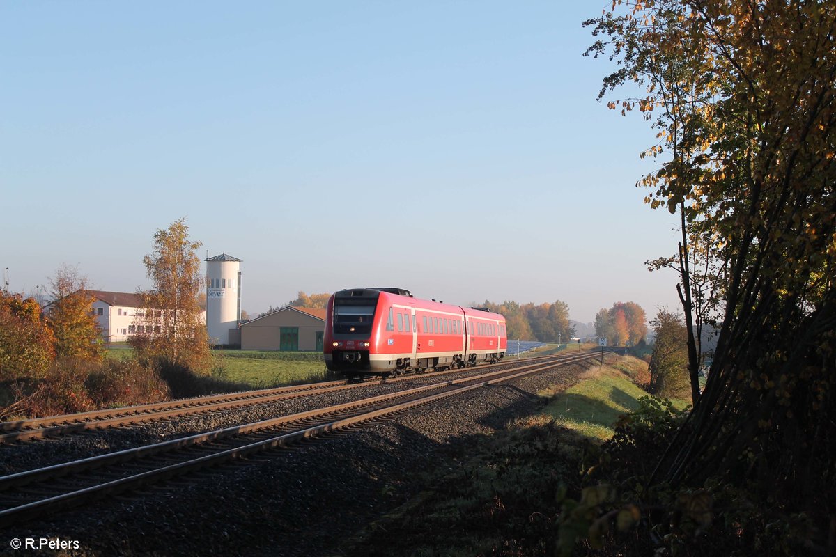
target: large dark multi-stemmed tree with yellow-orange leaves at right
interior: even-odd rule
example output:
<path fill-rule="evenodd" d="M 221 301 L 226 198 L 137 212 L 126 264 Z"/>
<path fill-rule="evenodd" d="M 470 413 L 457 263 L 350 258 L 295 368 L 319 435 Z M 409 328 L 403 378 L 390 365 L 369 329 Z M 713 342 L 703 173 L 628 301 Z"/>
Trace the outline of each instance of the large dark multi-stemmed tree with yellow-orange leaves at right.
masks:
<path fill-rule="evenodd" d="M 602 37 L 590 52 L 619 63 L 602 96 L 625 83 L 645 88 L 610 108 L 638 109 L 658 130 L 645 154 L 661 157 L 660 170 L 641 184 L 651 207 L 681 223 L 669 259 L 695 401 L 683 443 L 655 479 L 745 485 L 747 504 L 784 516 L 815 509 L 812 523 L 832 531 L 836 4 L 623 9 L 588 22 Z M 712 312 L 720 331 L 700 394 L 695 316 Z"/>

